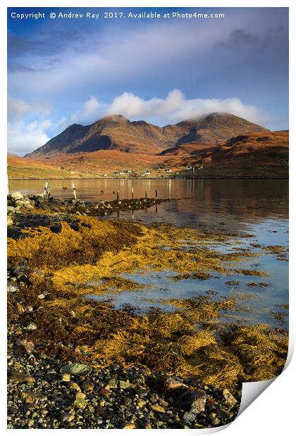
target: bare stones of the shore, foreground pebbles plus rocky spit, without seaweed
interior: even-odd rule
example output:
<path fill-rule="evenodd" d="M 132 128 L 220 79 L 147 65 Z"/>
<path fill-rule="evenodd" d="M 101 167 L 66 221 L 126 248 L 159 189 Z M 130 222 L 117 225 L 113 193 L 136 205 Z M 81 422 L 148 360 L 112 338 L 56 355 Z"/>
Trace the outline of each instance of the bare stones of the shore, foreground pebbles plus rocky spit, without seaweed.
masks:
<path fill-rule="evenodd" d="M 58 233 L 62 222 L 76 229 L 77 215 L 104 216 L 161 201 L 89 203 L 15 193 L 8 196 L 8 237 L 26 238 L 26 229 L 39 226 Z M 38 329 L 30 317 L 39 310 L 24 298 L 29 281 L 27 262 L 16 266 L 8 259 L 8 428 L 210 428 L 235 418 L 240 387 L 231 393 L 146 366 L 45 354 L 29 338 Z M 37 300 L 47 297 L 44 290 Z"/>

